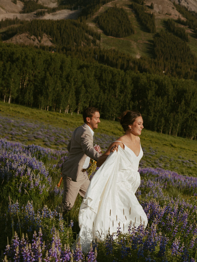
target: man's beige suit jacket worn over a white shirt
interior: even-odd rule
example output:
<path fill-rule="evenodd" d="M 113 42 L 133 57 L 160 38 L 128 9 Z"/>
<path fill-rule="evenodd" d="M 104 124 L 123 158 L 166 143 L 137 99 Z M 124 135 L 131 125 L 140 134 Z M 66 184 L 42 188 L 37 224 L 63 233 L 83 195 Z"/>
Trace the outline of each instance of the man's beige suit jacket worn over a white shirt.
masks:
<path fill-rule="evenodd" d="M 87 156 L 95 161 L 101 156 L 93 147 L 93 136 L 85 123 L 75 129 L 67 149 L 69 156 L 62 165 L 62 177 L 67 176 L 74 181 L 84 176 L 82 168 Z"/>

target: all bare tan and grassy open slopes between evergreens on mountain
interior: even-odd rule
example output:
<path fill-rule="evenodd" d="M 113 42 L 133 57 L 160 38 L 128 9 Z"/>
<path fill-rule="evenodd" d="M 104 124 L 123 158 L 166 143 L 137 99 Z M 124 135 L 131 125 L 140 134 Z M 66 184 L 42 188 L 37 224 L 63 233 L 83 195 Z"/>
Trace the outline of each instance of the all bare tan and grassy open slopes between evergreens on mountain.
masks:
<path fill-rule="evenodd" d="M 192 0 L 191 6 L 189 5 L 190 9 L 197 8 L 196 2 Z M 57 6 L 56 0 L 39 0 L 39 4 L 43 4 L 44 6 L 48 7 L 55 7 Z M 152 48 L 153 48 L 153 40 L 154 40 L 154 34 L 148 33 L 143 26 L 139 23 L 139 20 L 136 17 L 136 14 L 131 9 L 133 1 L 129 0 L 115 0 L 109 3 L 106 3 L 103 5 L 98 12 L 96 12 L 91 18 L 86 20 L 86 24 L 94 28 L 97 32 L 101 32 L 101 41 L 100 46 L 101 48 L 113 48 L 120 52 L 127 53 L 129 55 L 132 55 L 134 58 L 140 58 L 140 57 L 150 57 L 152 58 Z M 167 19 L 174 19 L 177 20 L 179 17 L 182 20 L 185 20 L 185 18 L 176 10 L 173 3 L 169 0 L 146 0 L 144 2 L 144 6 L 146 7 L 146 12 L 153 13 L 155 17 L 155 26 L 156 26 L 156 32 L 160 32 L 161 29 L 165 29 L 165 21 Z M 154 8 L 151 9 L 151 3 L 153 3 Z M 188 3 L 189 0 L 188 0 Z M 105 10 L 111 7 L 120 7 L 126 10 L 128 13 L 129 19 L 133 25 L 135 33 L 133 35 L 130 35 L 128 37 L 124 38 L 117 38 L 112 36 L 106 36 L 103 34 L 102 30 L 97 25 L 97 17 L 101 15 Z M 14 7 L 16 8 L 14 11 Z M 58 20 L 58 19 L 77 19 L 79 16 L 80 10 L 58 10 L 53 13 L 45 13 L 41 17 L 36 16 L 36 12 L 32 12 L 29 14 L 21 14 L 19 13 L 22 10 L 23 3 L 17 0 L 17 5 L 15 5 L 11 0 L 0 0 L 0 19 L 3 18 L 16 18 L 19 19 L 25 19 L 25 20 L 32 20 L 32 19 L 51 19 L 51 20 Z M 182 26 L 179 24 L 179 26 Z M 185 28 L 186 32 L 189 34 L 189 42 L 188 45 L 190 46 L 191 50 L 195 53 L 197 56 L 197 48 L 196 48 L 196 36 L 194 34 L 193 30 L 188 29 L 186 26 L 182 26 Z M 29 36 L 30 38 L 30 36 Z M 48 36 L 50 38 L 50 36 Z M 18 43 L 20 39 L 20 42 L 23 42 L 26 45 L 29 45 L 29 40 L 24 37 L 24 35 L 13 37 L 8 42 Z M 49 46 L 51 45 L 50 42 Z M 31 44 L 34 45 L 34 42 L 31 41 Z M 39 45 L 39 43 L 36 43 L 36 45 Z M 47 45 L 47 42 L 45 43 Z"/>

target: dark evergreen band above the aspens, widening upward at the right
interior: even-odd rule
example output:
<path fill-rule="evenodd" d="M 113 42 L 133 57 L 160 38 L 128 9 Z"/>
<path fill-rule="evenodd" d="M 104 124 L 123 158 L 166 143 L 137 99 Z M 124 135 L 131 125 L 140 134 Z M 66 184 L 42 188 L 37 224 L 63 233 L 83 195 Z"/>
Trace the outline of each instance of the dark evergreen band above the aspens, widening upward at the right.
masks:
<path fill-rule="evenodd" d="M 44 50 L 50 50 L 44 47 Z M 131 55 L 100 47 L 72 46 L 59 47 L 57 52 L 67 54 L 82 61 L 102 63 L 117 69 L 134 70 L 162 74 L 178 78 L 197 80 L 197 61 L 185 41 L 164 30 L 154 37 L 153 48 L 150 50 L 153 58 L 133 58 Z"/>

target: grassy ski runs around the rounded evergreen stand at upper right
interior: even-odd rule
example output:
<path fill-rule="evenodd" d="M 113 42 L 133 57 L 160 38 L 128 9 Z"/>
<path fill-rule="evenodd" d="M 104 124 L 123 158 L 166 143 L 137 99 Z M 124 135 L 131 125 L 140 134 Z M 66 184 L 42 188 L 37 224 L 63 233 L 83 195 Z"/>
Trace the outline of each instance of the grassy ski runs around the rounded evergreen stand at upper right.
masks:
<path fill-rule="evenodd" d="M 138 19 L 136 18 L 136 14 L 131 9 L 131 4 L 133 1 L 129 0 L 115 0 L 110 3 L 105 4 L 100 8 L 98 12 L 94 14 L 92 18 L 87 19 L 87 24 L 94 27 L 95 30 L 101 32 L 101 46 L 103 48 L 115 48 L 121 52 L 131 54 L 133 57 L 139 58 L 141 56 L 149 56 L 152 57 L 150 49 L 152 48 L 152 43 L 154 39 L 154 34 L 146 32 L 146 30 L 140 25 Z M 154 9 L 150 9 L 150 4 L 154 3 Z M 173 3 L 170 1 L 144 1 L 147 12 L 153 13 L 155 15 L 155 25 L 156 32 L 160 32 L 161 29 L 165 28 L 164 21 L 170 19 L 178 19 L 182 15 L 176 11 L 173 6 Z M 119 8 L 123 8 L 129 16 L 131 23 L 134 26 L 135 33 L 131 36 L 124 38 L 115 38 L 106 36 L 103 32 L 98 28 L 96 23 L 96 18 L 100 16 L 103 12 L 105 12 L 108 8 L 117 6 Z M 197 55 L 196 50 L 196 38 L 193 34 L 193 31 L 188 30 L 186 26 L 183 26 L 189 34 L 189 46 L 191 50 Z"/>

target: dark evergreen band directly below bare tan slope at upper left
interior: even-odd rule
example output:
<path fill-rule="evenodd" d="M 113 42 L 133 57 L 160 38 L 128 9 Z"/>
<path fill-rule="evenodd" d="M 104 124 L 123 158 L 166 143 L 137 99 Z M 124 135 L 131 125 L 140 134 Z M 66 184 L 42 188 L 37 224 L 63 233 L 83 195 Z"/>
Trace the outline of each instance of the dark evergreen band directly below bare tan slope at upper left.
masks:
<path fill-rule="evenodd" d="M 42 39 L 43 34 L 49 35 L 52 38 L 54 45 L 59 46 L 74 46 L 82 45 L 85 42 L 91 45 L 92 41 L 89 37 L 92 36 L 95 40 L 101 39 L 101 34 L 91 29 L 85 23 L 76 20 L 38 20 L 25 21 L 19 19 L 1 20 L 0 28 L 11 23 L 18 24 L 7 29 L 1 34 L 2 40 L 7 40 L 16 34 L 29 33 L 37 38 Z M 95 41 L 96 42 L 96 41 Z"/>

